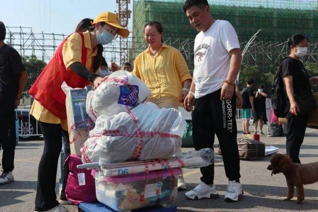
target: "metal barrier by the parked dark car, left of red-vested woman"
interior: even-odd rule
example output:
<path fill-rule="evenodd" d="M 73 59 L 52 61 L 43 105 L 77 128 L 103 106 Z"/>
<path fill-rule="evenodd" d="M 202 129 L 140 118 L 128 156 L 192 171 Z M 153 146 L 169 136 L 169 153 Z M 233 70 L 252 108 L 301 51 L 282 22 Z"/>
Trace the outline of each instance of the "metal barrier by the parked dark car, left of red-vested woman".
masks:
<path fill-rule="evenodd" d="M 19 119 L 19 136 L 28 138 L 30 136 L 41 136 L 38 121 L 30 115 L 31 106 L 18 106 L 15 109 L 15 117 Z"/>

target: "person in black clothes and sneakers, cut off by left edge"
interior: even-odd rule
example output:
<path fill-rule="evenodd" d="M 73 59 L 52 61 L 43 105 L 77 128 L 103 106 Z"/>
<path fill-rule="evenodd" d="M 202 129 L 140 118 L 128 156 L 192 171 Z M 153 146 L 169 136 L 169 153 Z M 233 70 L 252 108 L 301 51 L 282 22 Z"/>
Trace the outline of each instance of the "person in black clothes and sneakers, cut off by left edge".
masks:
<path fill-rule="evenodd" d="M 2 174 L 0 185 L 14 180 L 15 112 L 20 105 L 28 74 L 19 53 L 4 43 L 5 26 L 0 21 L 0 146 L 2 147 Z"/>

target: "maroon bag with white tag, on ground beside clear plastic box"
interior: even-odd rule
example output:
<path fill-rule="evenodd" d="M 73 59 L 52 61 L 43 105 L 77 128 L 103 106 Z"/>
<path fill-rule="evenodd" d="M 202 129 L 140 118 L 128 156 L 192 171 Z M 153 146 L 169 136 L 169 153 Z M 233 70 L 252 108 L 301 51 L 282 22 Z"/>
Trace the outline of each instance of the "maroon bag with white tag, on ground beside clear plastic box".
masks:
<path fill-rule="evenodd" d="M 65 194 L 69 201 L 74 205 L 79 205 L 81 202 L 93 203 L 96 202 L 95 179 L 91 175 L 90 169 L 78 169 L 77 165 L 82 164 L 79 156 L 71 154 L 65 163 L 69 165 L 68 182 L 65 188 Z M 83 174 L 81 174 L 83 173 Z M 78 174 L 80 174 L 78 176 Z M 83 176 L 84 175 L 84 176 Z M 83 178 L 85 179 L 83 181 Z M 79 182 L 79 179 L 81 182 Z M 82 185 L 85 182 L 85 185 Z M 79 185 L 81 184 L 81 186 Z"/>

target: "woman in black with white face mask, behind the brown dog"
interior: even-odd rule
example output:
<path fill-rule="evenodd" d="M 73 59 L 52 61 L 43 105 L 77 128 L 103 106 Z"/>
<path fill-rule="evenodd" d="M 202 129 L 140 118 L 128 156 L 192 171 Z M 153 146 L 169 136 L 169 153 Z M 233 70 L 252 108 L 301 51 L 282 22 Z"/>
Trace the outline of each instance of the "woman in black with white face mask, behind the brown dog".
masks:
<path fill-rule="evenodd" d="M 299 151 L 304 141 L 308 121 L 308 113 L 301 112 L 295 95 L 304 95 L 312 92 L 310 84 L 318 83 L 318 77 L 309 79 L 301 58 L 308 53 L 308 39 L 301 34 L 289 38 L 288 46 L 291 53 L 281 64 L 281 74 L 284 79 L 287 100 L 287 137 L 286 151 L 294 163 L 300 163 Z"/>

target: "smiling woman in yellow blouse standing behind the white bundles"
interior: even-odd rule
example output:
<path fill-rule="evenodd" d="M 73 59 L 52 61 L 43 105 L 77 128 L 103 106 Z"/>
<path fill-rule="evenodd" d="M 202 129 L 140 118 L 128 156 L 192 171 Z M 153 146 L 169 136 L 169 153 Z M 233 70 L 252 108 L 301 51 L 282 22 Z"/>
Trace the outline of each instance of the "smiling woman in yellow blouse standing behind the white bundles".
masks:
<path fill-rule="evenodd" d="M 163 29 L 158 21 L 149 21 L 144 26 L 148 48 L 134 61 L 133 74 L 150 89 L 149 102 L 159 108 L 178 109 L 188 95 L 192 78 L 182 54 L 175 48 L 162 43 Z M 112 63 L 112 71 L 119 67 Z M 178 190 L 186 190 L 183 176 L 178 178 Z"/>

